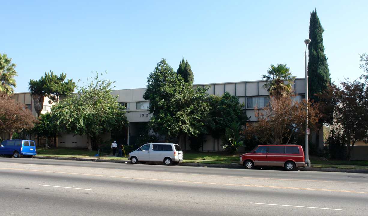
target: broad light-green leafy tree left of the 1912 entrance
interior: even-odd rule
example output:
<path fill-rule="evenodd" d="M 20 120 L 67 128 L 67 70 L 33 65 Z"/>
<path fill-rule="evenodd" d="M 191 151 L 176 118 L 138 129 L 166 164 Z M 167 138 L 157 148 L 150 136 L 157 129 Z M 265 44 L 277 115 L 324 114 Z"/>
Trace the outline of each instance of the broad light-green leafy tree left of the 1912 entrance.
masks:
<path fill-rule="evenodd" d="M 98 148 L 101 134 L 111 130 L 122 130 L 128 121 L 125 110 L 111 95 L 109 80 L 100 80 L 98 73 L 87 87 L 81 87 L 78 93 L 67 97 L 52 107 L 59 130 L 70 134 L 86 135 L 92 145 L 89 151 Z"/>

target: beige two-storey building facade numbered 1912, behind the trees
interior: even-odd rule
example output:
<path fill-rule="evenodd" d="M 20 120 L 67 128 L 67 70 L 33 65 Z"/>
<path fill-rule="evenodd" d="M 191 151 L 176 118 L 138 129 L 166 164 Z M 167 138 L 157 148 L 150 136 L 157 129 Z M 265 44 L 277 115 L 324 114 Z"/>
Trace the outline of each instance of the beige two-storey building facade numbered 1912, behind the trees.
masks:
<path fill-rule="evenodd" d="M 212 95 L 222 96 L 225 92 L 229 92 L 231 95 L 235 95 L 240 103 L 244 103 L 247 116 L 250 117 L 250 121 L 257 121 L 254 116 L 254 108 L 258 109 L 267 105 L 269 100 L 269 93 L 262 86 L 266 84 L 265 81 L 246 81 L 246 82 L 224 82 L 215 84 L 201 84 L 193 85 L 193 88 L 209 86 L 207 93 Z M 304 99 L 305 95 L 305 79 L 297 78 L 292 85 L 293 92 L 297 95 L 297 99 Z M 114 132 L 110 134 L 103 134 L 101 138 L 108 140 L 110 138 L 115 139 L 119 144 L 132 145 L 135 144 L 139 136 L 139 130 L 142 125 L 146 124 L 151 118 L 151 114 L 148 113 L 149 101 L 143 99 L 143 94 L 146 88 L 139 89 L 121 89 L 113 90 L 111 93 L 117 95 L 118 102 L 124 105 L 127 109 L 127 120 L 129 121 L 129 127 L 123 132 Z M 13 99 L 26 104 L 32 113 L 36 112 L 33 109 L 33 100 L 30 93 L 16 93 Z M 50 111 L 51 105 L 48 104 L 48 100 L 45 99 L 44 110 Z M 185 150 L 190 150 L 189 141 L 187 140 L 187 146 L 182 146 Z M 221 141 L 220 141 L 221 143 Z M 74 134 L 61 134 L 61 137 L 57 139 L 57 145 L 59 147 L 87 147 L 87 137 L 74 135 Z M 211 136 L 207 136 L 206 142 L 203 144 L 202 151 L 222 151 L 217 147 L 217 140 Z"/>

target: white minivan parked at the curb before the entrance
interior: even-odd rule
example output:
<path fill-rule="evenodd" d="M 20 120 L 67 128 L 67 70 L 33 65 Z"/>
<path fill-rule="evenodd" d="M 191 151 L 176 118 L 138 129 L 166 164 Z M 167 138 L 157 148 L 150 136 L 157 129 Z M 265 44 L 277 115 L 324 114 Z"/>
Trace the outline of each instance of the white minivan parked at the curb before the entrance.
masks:
<path fill-rule="evenodd" d="M 163 162 L 166 165 L 177 165 L 183 161 L 183 151 L 178 144 L 149 143 L 130 152 L 128 160 L 131 163 Z"/>

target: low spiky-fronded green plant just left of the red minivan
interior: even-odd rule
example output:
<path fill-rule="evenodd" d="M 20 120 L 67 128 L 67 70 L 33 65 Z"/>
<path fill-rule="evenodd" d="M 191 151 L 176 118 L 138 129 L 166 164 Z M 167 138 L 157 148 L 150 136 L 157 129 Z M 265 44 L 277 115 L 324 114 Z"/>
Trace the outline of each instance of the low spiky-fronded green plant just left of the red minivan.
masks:
<path fill-rule="evenodd" d="M 221 137 L 224 146 L 224 151 L 231 154 L 238 151 L 239 147 L 243 145 L 243 137 L 241 135 L 241 125 L 240 122 L 236 123 L 233 121 L 230 127 L 227 127 L 226 133 Z"/>

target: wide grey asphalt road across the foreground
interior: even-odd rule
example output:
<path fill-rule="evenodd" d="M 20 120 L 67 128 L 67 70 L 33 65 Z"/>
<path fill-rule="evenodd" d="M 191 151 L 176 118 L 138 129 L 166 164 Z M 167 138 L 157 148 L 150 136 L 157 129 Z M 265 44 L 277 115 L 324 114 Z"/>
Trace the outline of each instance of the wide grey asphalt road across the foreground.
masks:
<path fill-rule="evenodd" d="M 368 174 L 0 157 L 0 215 L 367 215 Z"/>

